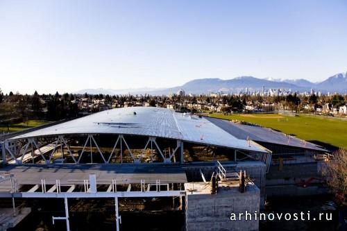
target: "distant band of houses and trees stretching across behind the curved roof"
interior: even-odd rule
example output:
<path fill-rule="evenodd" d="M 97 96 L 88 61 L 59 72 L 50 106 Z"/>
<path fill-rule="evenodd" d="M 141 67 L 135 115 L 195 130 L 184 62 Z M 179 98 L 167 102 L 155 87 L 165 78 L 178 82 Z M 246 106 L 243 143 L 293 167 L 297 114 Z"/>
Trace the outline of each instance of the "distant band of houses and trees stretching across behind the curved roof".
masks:
<path fill-rule="evenodd" d="M 314 92 L 312 92 L 314 93 Z M 0 123 L 8 125 L 27 119 L 56 121 L 83 117 L 94 112 L 112 108 L 158 107 L 179 112 L 205 113 L 305 113 L 335 117 L 347 116 L 347 95 L 341 94 L 284 94 L 264 96 L 261 94 L 177 94 L 163 96 L 108 94 L 3 94 L 1 92 Z"/>

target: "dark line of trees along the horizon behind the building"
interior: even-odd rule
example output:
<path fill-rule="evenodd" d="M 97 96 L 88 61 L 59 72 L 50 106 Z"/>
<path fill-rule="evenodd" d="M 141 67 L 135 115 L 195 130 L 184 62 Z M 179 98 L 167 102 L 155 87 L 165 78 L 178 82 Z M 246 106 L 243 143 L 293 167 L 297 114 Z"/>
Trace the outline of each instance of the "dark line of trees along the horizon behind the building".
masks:
<path fill-rule="evenodd" d="M 133 96 L 133 95 L 113 95 L 108 94 L 3 94 L 0 89 L 0 124 L 10 126 L 11 123 L 25 122 L 28 119 L 42 119 L 57 121 L 78 117 L 81 112 L 75 99 L 84 100 L 103 100 L 105 102 L 117 101 L 120 105 L 125 102 L 148 102 L 149 106 L 165 106 L 167 103 L 180 105 L 181 111 L 189 111 L 189 103 L 206 103 L 208 105 L 221 105 L 221 111 L 228 113 L 231 111 L 244 110 L 247 103 L 262 104 L 275 103 L 281 104 L 291 110 L 301 111 L 305 104 L 310 104 L 314 108 L 321 107 L 325 103 L 330 103 L 338 108 L 347 104 L 347 95 L 334 94 L 332 96 L 322 95 L 302 96 L 289 94 L 287 96 L 253 96 L 253 95 L 223 95 L 223 96 Z M 177 108 L 175 108 L 177 109 Z M 272 110 L 272 109 L 271 109 Z M 94 108 L 91 112 L 97 112 Z M 193 109 L 192 112 L 196 112 Z"/>

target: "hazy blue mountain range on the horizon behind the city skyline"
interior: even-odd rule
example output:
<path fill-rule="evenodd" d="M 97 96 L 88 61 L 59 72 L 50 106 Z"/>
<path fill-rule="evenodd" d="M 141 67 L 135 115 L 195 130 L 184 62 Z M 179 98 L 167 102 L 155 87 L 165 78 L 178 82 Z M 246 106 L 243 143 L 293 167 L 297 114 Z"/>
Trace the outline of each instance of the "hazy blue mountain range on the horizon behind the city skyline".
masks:
<path fill-rule="evenodd" d="M 75 94 L 170 94 L 176 93 L 179 89 L 184 89 L 186 93 L 207 94 L 210 92 L 239 92 L 244 91 L 246 87 L 250 91 L 261 91 L 265 89 L 291 89 L 292 91 L 305 92 L 314 89 L 318 92 L 339 92 L 347 93 L 347 72 L 335 74 L 319 83 L 312 83 L 305 79 L 296 80 L 279 80 L 269 78 L 255 78 L 253 76 L 240 76 L 229 80 L 221 80 L 220 78 L 201 78 L 191 80 L 184 85 L 170 87 L 165 89 L 81 89 Z"/>

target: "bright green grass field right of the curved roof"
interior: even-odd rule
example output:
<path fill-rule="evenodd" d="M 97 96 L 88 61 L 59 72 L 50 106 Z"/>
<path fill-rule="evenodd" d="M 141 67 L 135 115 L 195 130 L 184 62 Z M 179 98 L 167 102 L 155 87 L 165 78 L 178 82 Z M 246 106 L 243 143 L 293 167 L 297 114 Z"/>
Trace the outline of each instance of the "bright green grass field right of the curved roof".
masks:
<path fill-rule="evenodd" d="M 307 141 L 330 144 L 339 148 L 347 148 L 347 120 L 322 116 L 299 115 L 285 117 L 280 114 L 208 114 L 220 119 L 237 119 L 256 123 L 266 128 L 280 130 L 286 134 Z M 323 144 L 322 144 L 323 145 Z"/>

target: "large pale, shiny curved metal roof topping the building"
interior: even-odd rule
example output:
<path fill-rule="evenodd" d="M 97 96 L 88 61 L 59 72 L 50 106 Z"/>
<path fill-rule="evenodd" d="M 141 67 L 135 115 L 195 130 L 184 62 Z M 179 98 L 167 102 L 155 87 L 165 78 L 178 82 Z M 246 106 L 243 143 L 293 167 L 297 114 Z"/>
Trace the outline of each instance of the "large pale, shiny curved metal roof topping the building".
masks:
<path fill-rule="evenodd" d="M 246 151 L 269 151 L 244 139 L 237 139 L 205 118 L 174 112 L 167 108 L 117 108 L 54 126 L 18 135 L 11 139 L 25 139 L 51 135 L 123 134 L 179 139 L 184 142 L 223 146 Z M 10 140 L 11 140 L 10 139 Z"/>

